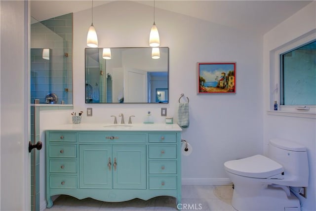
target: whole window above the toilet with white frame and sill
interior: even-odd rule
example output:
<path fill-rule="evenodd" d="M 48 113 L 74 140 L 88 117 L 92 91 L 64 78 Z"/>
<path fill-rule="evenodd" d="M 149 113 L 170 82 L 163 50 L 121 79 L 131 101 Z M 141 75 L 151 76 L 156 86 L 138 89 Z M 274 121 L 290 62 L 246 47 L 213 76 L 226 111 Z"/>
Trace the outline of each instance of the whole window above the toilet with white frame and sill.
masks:
<path fill-rule="evenodd" d="M 272 49 L 269 67 L 268 114 L 316 119 L 316 29 Z"/>

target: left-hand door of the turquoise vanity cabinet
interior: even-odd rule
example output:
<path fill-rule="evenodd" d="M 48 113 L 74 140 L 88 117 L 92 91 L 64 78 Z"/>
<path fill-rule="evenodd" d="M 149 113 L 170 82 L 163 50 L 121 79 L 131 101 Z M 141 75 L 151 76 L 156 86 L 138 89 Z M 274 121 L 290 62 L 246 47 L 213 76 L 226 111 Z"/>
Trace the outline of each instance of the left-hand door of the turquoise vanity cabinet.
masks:
<path fill-rule="evenodd" d="M 80 188 L 112 188 L 112 146 L 80 145 L 79 151 Z"/>

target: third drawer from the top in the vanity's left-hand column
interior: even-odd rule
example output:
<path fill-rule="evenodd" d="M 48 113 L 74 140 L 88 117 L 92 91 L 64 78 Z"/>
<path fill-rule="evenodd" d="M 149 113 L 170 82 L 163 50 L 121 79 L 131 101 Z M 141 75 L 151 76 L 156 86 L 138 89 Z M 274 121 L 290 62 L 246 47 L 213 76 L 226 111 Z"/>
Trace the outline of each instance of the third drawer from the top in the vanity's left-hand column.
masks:
<path fill-rule="evenodd" d="M 51 173 L 77 173 L 76 160 L 50 160 Z"/>

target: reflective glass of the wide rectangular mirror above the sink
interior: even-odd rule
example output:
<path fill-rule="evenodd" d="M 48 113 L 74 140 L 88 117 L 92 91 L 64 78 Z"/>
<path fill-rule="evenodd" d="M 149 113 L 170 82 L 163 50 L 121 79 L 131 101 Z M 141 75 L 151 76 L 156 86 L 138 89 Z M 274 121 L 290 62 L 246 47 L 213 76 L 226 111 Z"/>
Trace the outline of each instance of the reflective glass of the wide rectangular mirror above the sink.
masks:
<path fill-rule="evenodd" d="M 159 50 L 152 59 L 151 47 L 111 48 L 103 59 L 103 48 L 86 48 L 85 103 L 168 103 L 169 48 Z"/>

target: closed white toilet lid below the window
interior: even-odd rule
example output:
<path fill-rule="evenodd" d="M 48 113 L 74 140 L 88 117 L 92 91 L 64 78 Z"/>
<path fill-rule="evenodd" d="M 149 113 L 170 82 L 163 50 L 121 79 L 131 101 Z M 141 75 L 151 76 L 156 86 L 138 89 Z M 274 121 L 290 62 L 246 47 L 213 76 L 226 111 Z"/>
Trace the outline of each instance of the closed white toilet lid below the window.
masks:
<path fill-rule="evenodd" d="M 263 155 L 227 161 L 224 167 L 231 173 L 254 178 L 269 178 L 284 171 L 280 164 Z"/>

